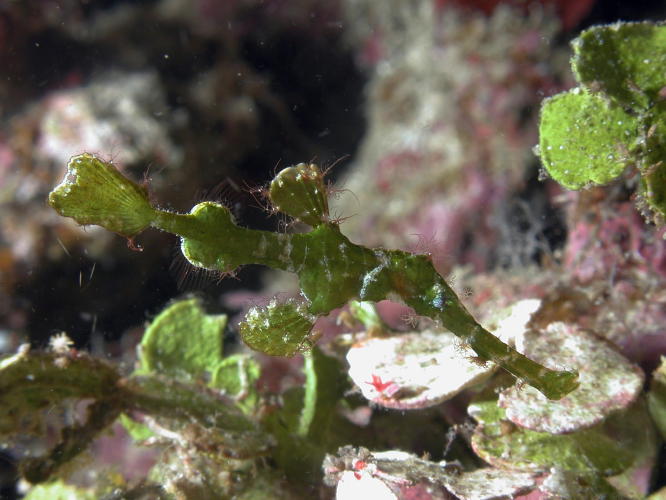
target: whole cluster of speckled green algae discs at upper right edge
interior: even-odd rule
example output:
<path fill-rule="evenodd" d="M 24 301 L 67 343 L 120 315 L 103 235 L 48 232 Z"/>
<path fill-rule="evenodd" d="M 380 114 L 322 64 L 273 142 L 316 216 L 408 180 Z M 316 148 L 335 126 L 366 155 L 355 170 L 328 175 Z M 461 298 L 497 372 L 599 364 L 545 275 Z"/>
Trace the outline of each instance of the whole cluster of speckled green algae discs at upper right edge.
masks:
<path fill-rule="evenodd" d="M 580 87 L 543 102 L 539 156 L 568 189 L 606 184 L 632 166 L 639 206 L 666 221 L 666 25 L 594 26 L 573 42 Z M 647 213 L 647 211 L 646 211 Z"/>

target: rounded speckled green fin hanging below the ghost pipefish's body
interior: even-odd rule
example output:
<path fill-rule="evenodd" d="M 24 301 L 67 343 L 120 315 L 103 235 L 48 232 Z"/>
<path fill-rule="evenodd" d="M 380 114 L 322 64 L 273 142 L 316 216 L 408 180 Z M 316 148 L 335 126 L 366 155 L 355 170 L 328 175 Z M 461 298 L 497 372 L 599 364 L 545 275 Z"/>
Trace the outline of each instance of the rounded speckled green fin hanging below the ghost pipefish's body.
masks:
<path fill-rule="evenodd" d="M 239 325 L 243 342 L 271 356 L 293 356 L 308 349 L 313 318 L 293 301 L 253 307 Z"/>

